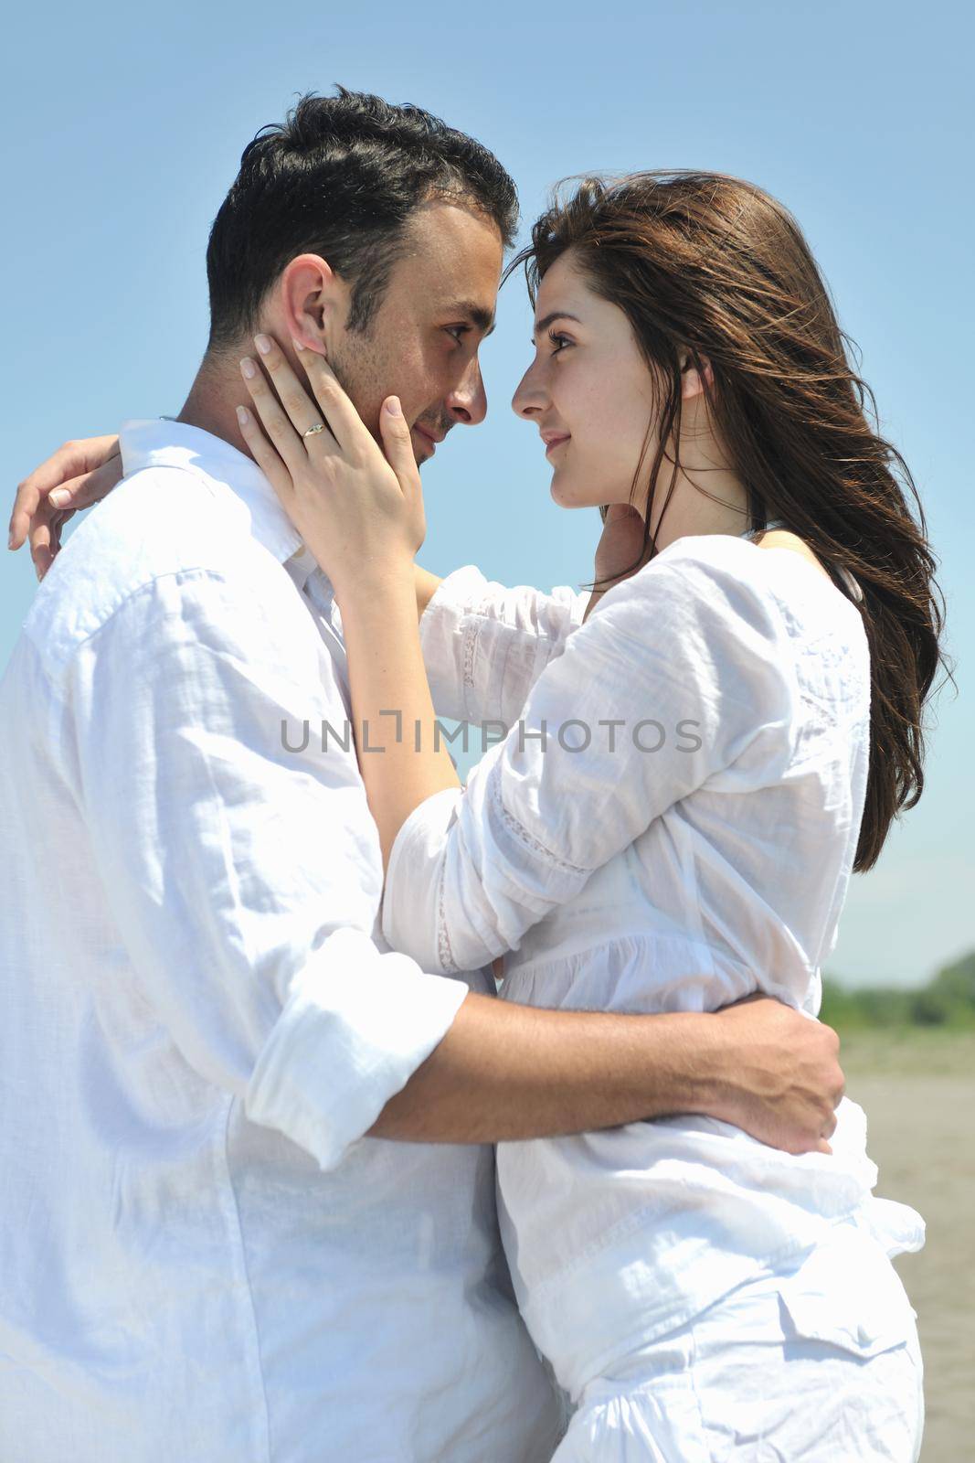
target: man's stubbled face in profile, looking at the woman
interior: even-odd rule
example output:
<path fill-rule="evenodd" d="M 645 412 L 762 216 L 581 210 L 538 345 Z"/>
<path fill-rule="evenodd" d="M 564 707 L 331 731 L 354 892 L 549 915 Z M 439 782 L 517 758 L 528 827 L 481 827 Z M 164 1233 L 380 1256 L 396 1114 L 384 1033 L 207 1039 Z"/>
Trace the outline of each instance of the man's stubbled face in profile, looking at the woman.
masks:
<path fill-rule="evenodd" d="M 503 246 L 490 219 L 453 203 L 424 205 L 408 228 L 408 250 L 368 328 L 333 331 L 327 351 L 376 437 L 383 401 L 399 396 L 425 462 L 452 427 L 487 413 L 478 348 L 494 328 Z"/>

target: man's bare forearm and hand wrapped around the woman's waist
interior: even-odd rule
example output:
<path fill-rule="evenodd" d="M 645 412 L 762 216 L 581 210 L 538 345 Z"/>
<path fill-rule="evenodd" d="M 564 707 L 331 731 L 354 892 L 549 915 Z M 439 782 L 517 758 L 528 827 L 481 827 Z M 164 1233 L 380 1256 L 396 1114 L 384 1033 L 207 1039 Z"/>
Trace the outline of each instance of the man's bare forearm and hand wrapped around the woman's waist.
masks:
<path fill-rule="evenodd" d="M 767 996 L 718 1014 L 631 1015 L 471 992 L 370 1132 L 506 1143 L 703 1113 L 788 1153 L 829 1153 L 838 1046 L 827 1026 Z"/>

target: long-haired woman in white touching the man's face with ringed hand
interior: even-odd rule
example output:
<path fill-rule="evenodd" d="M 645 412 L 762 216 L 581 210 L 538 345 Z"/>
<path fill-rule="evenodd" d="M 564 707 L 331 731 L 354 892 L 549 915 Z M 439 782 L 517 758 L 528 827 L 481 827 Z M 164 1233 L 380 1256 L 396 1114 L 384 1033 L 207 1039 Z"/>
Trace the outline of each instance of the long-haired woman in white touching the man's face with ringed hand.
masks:
<path fill-rule="evenodd" d="M 466 790 L 431 734 L 399 404 L 384 461 L 297 341 L 317 404 L 265 356 L 298 402 L 275 449 L 259 420 L 281 408 L 241 363 L 243 436 L 342 610 L 384 933 L 425 969 L 504 954 L 520 1002 L 702 1009 L 757 977 L 813 1014 L 851 869 L 922 787 L 941 620 L 892 464 L 909 474 L 864 417 L 798 227 L 759 189 L 591 180 L 520 257 L 536 354 L 515 410 L 555 500 L 599 505 L 631 552 L 607 566 L 604 535 L 585 623 L 572 595 L 474 569 L 436 588 L 424 651 L 459 688 L 440 710 L 517 718 Z M 862 1113 L 838 1118 L 833 1150 L 803 1156 L 681 1116 L 500 1146 L 519 1304 L 576 1404 L 558 1459 L 918 1456 L 889 1254 L 922 1223 L 871 1197 Z"/>

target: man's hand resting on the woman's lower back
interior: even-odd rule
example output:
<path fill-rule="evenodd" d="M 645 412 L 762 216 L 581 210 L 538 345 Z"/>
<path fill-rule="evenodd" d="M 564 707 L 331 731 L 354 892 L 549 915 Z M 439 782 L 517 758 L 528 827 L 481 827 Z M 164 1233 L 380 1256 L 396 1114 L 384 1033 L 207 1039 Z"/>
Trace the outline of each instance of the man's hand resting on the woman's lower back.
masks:
<path fill-rule="evenodd" d="M 718 1012 L 716 1102 L 706 1110 L 785 1153 L 832 1153 L 843 1096 L 832 1027 L 765 996 Z"/>

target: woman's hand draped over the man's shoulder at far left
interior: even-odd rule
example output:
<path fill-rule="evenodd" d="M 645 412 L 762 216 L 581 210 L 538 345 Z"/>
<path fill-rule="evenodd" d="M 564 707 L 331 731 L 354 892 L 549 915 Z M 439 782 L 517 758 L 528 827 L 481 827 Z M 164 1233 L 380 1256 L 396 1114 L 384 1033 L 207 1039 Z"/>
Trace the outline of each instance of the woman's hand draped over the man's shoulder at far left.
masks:
<path fill-rule="evenodd" d="M 31 541 L 34 572 L 42 579 L 60 547 L 61 528 L 79 508 L 91 508 L 121 480 L 118 437 L 66 442 L 18 487 L 7 549 Z"/>

